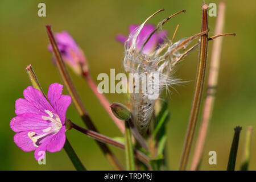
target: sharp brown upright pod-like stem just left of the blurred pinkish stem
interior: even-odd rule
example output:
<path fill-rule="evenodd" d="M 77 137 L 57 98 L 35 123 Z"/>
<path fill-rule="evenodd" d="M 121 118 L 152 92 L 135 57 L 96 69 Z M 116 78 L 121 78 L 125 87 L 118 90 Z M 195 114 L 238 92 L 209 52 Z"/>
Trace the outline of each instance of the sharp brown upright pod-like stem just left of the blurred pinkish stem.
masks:
<path fill-rule="evenodd" d="M 204 4 L 202 7 L 202 26 L 201 32 L 208 30 L 208 5 Z M 188 162 L 189 152 L 191 150 L 191 144 L 193 141 L 193 135 L 195 133 L 196 121 L 199 114 L 201 96 L 204 87 L 205 69 L 207 65 L 207 48 L 208 48 L 208 34 L 202 35 L 200 39 L 200 51 L 199 51 L 199 63 L 197 66 L 197 76 L 195 92 L 193 96 L 191 114 L 189 117 L 187 134 L 183 146 L 183 152 L 181 154 L 180 170 L 185 170 Z"/>

